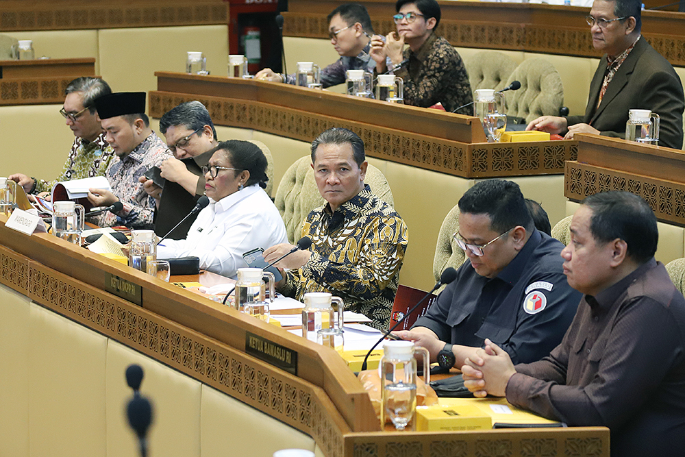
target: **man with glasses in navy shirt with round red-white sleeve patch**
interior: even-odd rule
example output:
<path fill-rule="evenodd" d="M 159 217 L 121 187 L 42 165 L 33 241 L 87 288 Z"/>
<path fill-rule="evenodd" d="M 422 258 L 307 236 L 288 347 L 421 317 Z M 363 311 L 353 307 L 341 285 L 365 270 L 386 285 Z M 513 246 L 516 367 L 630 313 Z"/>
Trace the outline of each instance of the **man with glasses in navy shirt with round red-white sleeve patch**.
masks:
<path fill-rule="evenodd" d="M 459 210 L 454 240 L 469 262 L 397 336 L 428 349 L 445 369 L 462 367 L 486 338 L 514 363 L 540 360 L 562 340 L 581 297 L 564 276 L 564 245 L 535 228 L 514 182 L 475 184 Z"/>

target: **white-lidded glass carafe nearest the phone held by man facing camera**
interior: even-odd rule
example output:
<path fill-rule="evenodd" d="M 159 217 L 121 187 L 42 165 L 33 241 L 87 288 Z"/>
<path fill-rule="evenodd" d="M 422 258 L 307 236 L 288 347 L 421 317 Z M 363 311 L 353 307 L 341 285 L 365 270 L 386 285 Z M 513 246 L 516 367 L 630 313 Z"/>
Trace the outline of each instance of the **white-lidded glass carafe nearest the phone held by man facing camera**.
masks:
<path fill-rule="evenodd" d="M 264 296 L 264 277 L 269 280 L 269 301 L 275 298 L 273 273 L 260 268 L 239 268 L 236 281 L 236 310 L 259 319 L 269 319 L 269 302 Z"/>

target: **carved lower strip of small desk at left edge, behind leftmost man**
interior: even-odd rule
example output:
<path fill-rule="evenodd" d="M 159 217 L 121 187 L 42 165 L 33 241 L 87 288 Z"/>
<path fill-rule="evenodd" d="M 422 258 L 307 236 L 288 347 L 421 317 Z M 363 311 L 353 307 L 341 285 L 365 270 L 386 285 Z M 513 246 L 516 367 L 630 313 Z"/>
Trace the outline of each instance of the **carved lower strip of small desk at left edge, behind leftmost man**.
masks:
<path fill-rule="evenodd" d="M 0 106 L 62 103 L 64 89 L 74 78 L 0 79 Z"/>

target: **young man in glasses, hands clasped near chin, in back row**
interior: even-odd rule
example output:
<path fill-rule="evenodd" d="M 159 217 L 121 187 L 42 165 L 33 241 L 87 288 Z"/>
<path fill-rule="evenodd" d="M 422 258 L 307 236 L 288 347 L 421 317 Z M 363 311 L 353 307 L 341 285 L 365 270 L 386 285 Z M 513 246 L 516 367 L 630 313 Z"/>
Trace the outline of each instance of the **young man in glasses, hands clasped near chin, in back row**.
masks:
<path fill-rule="evenodd" d="M 378 73 L 385 73 L 386 58 L 394 66 L 404 60 L 408 64 L 393 69 L 404 80 L 404 103 L 427 108 L 440 102 L 447 111 L 473 116 L 471 84 L 459 53 L 435 29 L 440 23 L 440 5 L 436 0 L 397 0 L 393 16 L 397 34 L 390 32 L 371 38 L 371 58 Z M 409 49 L 402 51 L 405 45 Z"/>

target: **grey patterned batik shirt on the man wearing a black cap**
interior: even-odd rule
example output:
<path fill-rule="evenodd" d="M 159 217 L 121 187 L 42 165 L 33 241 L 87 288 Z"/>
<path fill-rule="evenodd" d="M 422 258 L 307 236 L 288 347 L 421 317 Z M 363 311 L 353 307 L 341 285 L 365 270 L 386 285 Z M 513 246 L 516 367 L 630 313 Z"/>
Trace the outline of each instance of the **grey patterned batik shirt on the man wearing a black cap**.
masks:
<path fill-rule="evenodd" d="M 125 225 L 132 229 L 153 229 L 155 199 L 145 192 L 138 178 L 171 157 L 164 141 L 153 132 L 125 158 L 114 158 L 105 176 L 123 210 L 116 214 L 105 212 L 93 222 L 100 227 Z"/>

